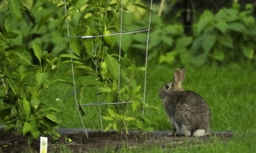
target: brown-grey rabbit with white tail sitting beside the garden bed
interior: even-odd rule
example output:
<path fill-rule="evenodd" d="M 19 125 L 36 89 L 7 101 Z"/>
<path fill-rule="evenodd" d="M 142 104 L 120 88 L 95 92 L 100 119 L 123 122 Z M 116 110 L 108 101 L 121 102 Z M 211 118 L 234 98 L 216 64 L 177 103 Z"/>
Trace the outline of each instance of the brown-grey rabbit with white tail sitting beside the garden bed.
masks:
<path fill-rule="evenodd" d="M 166 114 L 173 125 L 172 136 L 206 136 L 210 133 L 211 110 L 204 99 L 197 93 L 184 91 L 182 81 L 186 67 L 177 68 L 174 81 L 166 83 L 159 91 L 163 99 Z"/>

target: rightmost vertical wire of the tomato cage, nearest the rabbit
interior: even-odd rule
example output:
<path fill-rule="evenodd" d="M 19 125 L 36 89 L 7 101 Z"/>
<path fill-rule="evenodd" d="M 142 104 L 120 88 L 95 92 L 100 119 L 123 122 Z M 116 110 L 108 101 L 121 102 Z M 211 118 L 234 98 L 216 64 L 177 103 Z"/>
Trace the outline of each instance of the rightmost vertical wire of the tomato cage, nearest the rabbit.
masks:
<path fill-rule="evenodd" d="M 150 4 L 150 9 L 152 9 L 152 0 Z M 144 109 L 145 109 L 145 96 L 146 96 L 146 83 L 147 83 L 147 68 L 148 68 L 148 39 L 150 38 L 150 22 L 151 22 L 151 11 L 150 11 L 150 21 L 148 23 L 148 37 L 147 37 L 147 49 L 146 49 L 146 61 L 145 61 L 145 81 L 144 81 L 144 99 L 143 99 L 143 112 L 142 115 L 144 116 Z"/>

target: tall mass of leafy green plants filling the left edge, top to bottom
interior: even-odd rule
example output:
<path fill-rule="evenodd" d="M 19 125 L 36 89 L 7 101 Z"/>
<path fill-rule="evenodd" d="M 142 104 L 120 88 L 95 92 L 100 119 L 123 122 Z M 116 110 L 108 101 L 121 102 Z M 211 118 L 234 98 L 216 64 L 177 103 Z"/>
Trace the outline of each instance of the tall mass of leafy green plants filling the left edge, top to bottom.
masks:
<path fill-rule="evenodd" d="M 49 80 L 57 71 L 59 59 L 56 54 L 63 50 L 58 45 L 63 38 L 58 32 L 49 32 L 59 28 L 58 24 L 45 24 L 50 14 L 58 14 L 54 12 L 58 6 L 45 1 L 11 0 L 1 1 L 0 10 L 0 121 L 6 125 L 6 130 L 15 128 L 34 138 L 41 134 L 59 137 L 55 112 L 62 111 L 48 107 L 41 100 L 49 84 L 65 82 Z M 44 16 L 45 12 L 50 14 Z M 44 35 L 47 32 L 50 34 Z M 57 35 L 51 37 L 51 34 Z M 53 44 L 56 46 L 52 47 Z"/>

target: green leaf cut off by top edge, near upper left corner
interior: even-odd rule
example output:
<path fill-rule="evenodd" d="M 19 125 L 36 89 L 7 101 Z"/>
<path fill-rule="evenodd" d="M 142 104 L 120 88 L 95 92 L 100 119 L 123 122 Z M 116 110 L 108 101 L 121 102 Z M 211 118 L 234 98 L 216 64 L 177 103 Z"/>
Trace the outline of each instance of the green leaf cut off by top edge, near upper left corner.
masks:
<path fill-rule="evenodd" d="M 20 4 L 20 1 L 9 0 L 9 10 L 10 10 L 10 13 L 12 13 L 12 15 L 16 19 L 22 18 L 22 5 Z"/>

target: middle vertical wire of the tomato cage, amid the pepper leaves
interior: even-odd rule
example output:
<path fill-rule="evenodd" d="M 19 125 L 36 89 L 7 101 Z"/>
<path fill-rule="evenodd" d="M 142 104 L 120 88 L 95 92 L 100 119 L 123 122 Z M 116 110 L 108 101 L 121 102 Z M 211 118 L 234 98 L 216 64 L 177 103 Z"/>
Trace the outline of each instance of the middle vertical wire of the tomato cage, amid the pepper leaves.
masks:
<path fill-rule="evenodd" d="M 122 46 L 122 21 L 123 21 L 123 0 L 121 3 L 121 17 L 120 17 L 120 37 L 119 37 L 119 68 L 118 68 L 118 112 L 119 112 L 119 101 L 120 101 L 120 61 L 121 61 L 121 46 Z"/>

